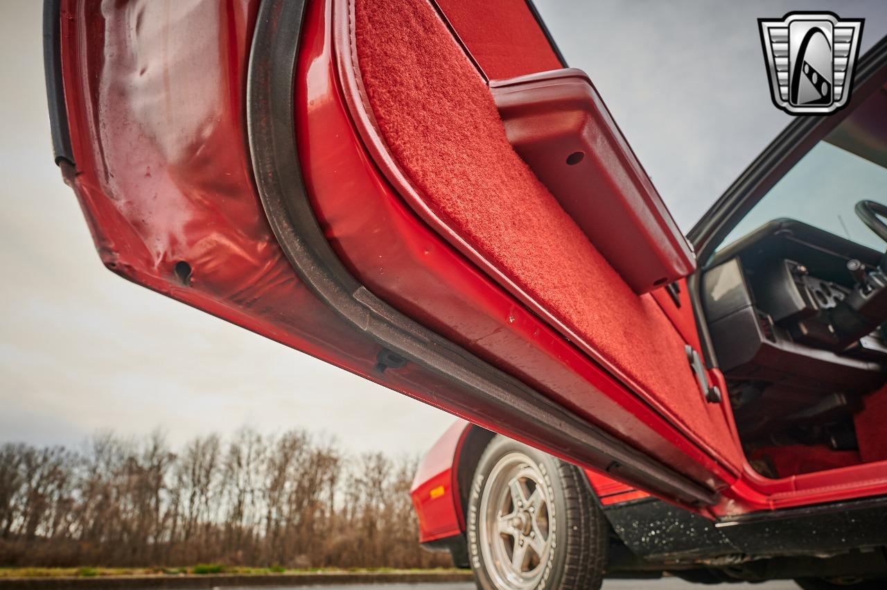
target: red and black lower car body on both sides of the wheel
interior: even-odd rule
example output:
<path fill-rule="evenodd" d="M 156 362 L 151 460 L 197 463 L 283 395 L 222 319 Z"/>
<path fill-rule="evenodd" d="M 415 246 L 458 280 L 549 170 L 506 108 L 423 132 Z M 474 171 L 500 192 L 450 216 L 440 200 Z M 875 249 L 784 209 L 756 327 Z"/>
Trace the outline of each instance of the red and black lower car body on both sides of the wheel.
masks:
<path fill-rule="evenodd" d="M 467 565 L 467 496 L 478 460 L 494 436 L 470 422 L 455 421 L 422 458 L 411 486 L 420 543 L 432 551 L 449 551 L 457 564 Z M 879 567 L 877 559 L 853 561 L 865 560 L 867 554 L 852 551 L 882 543 L 887 511 L 879 498 L 712 522 L 599 471 L 583 471 L 610 526 L 608 568 L 614 575 L 705 569 L 737 559 L 734 565 L 747 568 L 742 574 L 746 579 L 778 577 L 781 568 Z M 824 530 L 840 534 L 816 532 Z M 813 555 L 836 557 L 829 562 Z"/>

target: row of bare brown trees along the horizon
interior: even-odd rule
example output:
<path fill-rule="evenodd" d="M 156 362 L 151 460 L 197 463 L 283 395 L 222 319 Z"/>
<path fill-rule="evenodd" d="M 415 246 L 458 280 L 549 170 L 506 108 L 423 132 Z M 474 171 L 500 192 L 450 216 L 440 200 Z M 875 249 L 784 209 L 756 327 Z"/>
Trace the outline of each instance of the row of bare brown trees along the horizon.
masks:
<path fill-rule="evenodd" d="M 82 448 L 0 445 L 0 564 L 425 568 L 415 459 L 349 456 L 303 430 L 111 433 Z"/>

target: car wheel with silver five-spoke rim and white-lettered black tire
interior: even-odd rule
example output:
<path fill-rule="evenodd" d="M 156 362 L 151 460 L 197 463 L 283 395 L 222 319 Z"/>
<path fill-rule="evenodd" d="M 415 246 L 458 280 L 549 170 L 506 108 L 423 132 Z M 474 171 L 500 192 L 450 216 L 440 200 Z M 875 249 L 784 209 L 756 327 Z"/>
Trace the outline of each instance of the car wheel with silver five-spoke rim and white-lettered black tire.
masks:
<path fill-rule="evenodd" d="M 600 588 L 609 527 L 585 474 L 569 463 L 493 437 L 475 470 L 466 525 L 479 590 Z"/>

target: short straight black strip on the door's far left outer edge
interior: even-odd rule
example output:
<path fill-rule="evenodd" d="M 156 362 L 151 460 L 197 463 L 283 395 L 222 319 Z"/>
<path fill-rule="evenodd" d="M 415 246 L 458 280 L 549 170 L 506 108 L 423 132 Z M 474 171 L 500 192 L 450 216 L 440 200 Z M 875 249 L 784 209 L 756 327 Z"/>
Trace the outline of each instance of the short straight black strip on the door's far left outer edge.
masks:
<path fill-rule="evenodd" d="M 43 0 L 43 73 L 46 103 L 50 108 L 52 155 L 56 164 L 74 165 L 71 135 L 67 127 L 65 85 L 61 77 L 61 0 Z"/>

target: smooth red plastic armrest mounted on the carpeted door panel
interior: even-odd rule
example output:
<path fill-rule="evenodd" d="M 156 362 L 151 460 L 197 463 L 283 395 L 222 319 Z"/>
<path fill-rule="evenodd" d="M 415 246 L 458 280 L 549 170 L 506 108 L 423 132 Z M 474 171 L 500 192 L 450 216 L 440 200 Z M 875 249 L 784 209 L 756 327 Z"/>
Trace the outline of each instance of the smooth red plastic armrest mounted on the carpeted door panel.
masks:
<path fill-rule="evenodd" d="M 693 250 L 582 70 L 491 80 L 514 150 L 642 294 L 695 270 Z"/>

